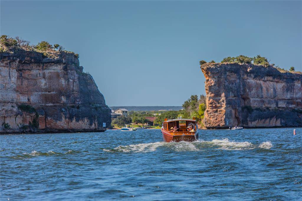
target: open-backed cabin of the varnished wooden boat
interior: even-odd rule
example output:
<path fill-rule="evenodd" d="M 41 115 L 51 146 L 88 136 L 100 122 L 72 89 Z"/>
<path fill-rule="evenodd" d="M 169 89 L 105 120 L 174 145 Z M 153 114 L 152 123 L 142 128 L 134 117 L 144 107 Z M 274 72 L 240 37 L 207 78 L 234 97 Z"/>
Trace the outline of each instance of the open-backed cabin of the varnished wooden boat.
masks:
<path fill-rule="evenodd" d="M 183 133 L 183 132 L 189 132 L 187 131 L 187 127 L 189 126 L 189 124 L 193 124 L 194 125 L 194 130 L 197 130 L 196 127 L 196 120 L 195 118 L 193 118 L 193 120 L 191 119 L 165 119 L 165 121 L 163 122 L 163 129 L 168 131 L 168 132 L 172 132 L 171 128 L 174 128 L 176 126 L 177 130 L 173 132 L 174 133 Z M 195 132 L 191 132 L 191 133 L 195 133 Z"/>

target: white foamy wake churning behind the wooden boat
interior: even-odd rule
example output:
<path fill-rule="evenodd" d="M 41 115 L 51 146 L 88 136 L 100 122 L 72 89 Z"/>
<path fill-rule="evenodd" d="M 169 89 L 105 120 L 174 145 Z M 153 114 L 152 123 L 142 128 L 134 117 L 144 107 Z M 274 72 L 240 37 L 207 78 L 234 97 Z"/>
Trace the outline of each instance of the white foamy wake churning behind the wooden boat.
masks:
<path fill-rule="evenodd" d="M 154 142 L 136 145 L 118 146 L 113 149 L 103 149 L 105 152 L 154 152 L 157 148 L 169 148 L 173 151 L 201 151 L 204 148 L 216 148 L 223 150 L 248 150 L 248 149 L 270 149 L 271 142 L 262 142 L 260 145 L 251 142 L 234 142 L 225 138 L 222 140 L 213 139 L 212 141 L 194 141 L 194 142 Z"/>

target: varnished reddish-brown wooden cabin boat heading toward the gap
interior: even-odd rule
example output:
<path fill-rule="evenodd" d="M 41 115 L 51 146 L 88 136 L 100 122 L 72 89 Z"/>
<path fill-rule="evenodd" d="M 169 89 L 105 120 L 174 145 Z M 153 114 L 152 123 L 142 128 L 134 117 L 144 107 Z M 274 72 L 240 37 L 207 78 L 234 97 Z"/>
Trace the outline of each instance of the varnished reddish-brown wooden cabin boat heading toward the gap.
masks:
<path fill-rule="evenodd" d="M 187 130 L 189 125 L 194 126 L 195 132 Z M 177 128 L 171 130 L 169 128 Z M 165 142 L 192 142 L 198 140 L 198 127 L 195 119 L 165 119 L 162 123 L 162 139 Z"/>

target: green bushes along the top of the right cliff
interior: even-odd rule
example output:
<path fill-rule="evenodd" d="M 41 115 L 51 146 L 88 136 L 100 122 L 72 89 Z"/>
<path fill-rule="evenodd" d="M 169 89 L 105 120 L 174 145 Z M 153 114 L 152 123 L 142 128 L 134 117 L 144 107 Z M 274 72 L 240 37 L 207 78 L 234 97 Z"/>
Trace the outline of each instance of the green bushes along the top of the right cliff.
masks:
<path fill-rule="evenodd" d="M 199 61 L 199 64 L 200 65 L 203 65 L 207 63 L 205 60 L 201 60 Z M 208 62 L 208 63 L 215 63 L 213 60 Z M 268 67 L 269 65 L 278 69 L 278 71 L 280 72 L 294 72 L 295 71 L 295 68 L 294 66 L 291 66 L 291 68 L 288 70 L 284 69 L 284 68 L 280 68 L 278 65 L 275 66 L 275 64 L 270 64 L 268 59 L 266 57 L 263 57 L 263 56 L 260 56 L 260 55 L 257 55 L 257 56 L 254 56 L 254 57 L 248 57 L 248 56 L 244 56 L 244 55 L 239 55 L 239 56 L 236 56 L 236 57 L 226 57 L 226 58 L 223 58 L 221 63 L 239 63 L 239 64 L 255 64 L 255 65 L 263 65 L 265 67 Z"/>

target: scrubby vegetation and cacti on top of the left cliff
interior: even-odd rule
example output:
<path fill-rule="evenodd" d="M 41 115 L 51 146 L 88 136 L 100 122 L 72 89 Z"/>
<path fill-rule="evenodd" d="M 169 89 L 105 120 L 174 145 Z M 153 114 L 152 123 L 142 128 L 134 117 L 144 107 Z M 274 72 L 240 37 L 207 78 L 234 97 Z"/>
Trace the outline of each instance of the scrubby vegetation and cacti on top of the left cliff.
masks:
<path fill-rule="evenodd" d="M 64 50 L 65 48 L 59 44 L 51 45 L 47 41 L 41 41 L 37 45 L 30 45 L 30 42 L 23 40 L 21 37 L 10 38 L 7 35 L 2 35 L 0 38 L 0 53 L 8 52 L 14 53 L 18 49 L 24 49 L 27 51 L 34 51 L 43 53 L 43 56 L 56 58 L 61 52 L 71 53 L 76 58 L 79 58 L 79 54 Z"/>

